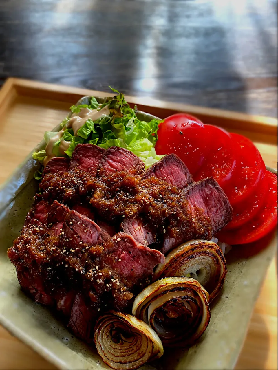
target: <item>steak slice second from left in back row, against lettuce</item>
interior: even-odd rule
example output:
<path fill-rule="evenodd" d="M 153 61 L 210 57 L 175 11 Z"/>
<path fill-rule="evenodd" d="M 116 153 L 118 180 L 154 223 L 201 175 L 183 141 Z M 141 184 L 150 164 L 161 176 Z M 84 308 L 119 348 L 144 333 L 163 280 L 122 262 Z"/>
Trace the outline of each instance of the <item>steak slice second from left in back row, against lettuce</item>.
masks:
<path fill-rule="evenodd" d="M 94 144 L 78 144 L 73 151 L 70 161 L 70 170 L 76 166 L 92 175 L 96 175 L 98 164 L 105 149 Z"/>

